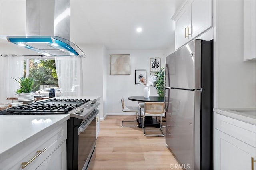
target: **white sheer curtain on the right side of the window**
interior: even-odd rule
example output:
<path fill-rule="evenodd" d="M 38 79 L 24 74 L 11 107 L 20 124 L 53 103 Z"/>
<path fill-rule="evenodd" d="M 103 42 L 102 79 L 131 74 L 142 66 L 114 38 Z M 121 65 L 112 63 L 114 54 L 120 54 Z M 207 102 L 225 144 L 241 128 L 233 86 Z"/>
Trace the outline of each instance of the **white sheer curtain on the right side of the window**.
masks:
<path fill-rule="evenodd" d="M 55 57 L 55 63 L 61 95 L 82 96 L 82 59 L 80 57 Z"/>

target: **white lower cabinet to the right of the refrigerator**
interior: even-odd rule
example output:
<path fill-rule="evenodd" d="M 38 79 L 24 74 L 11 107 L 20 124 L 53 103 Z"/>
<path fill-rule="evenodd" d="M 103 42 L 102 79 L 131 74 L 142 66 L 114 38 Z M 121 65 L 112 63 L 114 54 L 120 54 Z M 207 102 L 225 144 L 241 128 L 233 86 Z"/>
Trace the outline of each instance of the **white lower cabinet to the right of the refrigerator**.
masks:
<path fill-rule="evenodd" d="M 214 113 L 214 169 L 256 170 L 256 126 Z"/>

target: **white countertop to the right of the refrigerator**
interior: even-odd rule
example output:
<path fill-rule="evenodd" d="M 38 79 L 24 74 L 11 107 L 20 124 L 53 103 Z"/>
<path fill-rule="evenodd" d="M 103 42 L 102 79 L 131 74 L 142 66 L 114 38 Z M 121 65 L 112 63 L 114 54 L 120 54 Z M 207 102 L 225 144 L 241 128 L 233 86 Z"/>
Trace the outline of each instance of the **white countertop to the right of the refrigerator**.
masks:
<path fill-rule="evenodd" d="M 214 108 L 213 111 L 224 116 L 256 125 L 256 108 Z"/>

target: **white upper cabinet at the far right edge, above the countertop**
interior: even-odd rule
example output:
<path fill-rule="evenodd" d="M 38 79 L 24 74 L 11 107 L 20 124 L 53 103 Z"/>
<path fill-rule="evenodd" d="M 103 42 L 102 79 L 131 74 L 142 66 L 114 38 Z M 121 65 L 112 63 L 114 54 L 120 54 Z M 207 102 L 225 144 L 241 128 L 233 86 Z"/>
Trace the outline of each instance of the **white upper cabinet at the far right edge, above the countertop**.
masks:
<path fill-rule="evenodd" d="M 244 60 L 256 60 L 256 1 L 244 1 Z"/>

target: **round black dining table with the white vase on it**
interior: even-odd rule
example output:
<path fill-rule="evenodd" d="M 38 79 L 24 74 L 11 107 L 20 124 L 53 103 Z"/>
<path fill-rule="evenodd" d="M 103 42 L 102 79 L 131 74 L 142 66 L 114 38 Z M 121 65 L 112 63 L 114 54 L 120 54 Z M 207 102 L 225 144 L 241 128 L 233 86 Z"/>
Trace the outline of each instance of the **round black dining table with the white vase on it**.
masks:
<path fill-rule="evenodd" d="M 145 98 L 144 96 L 129 96 L 128 100 L 131 101 L 138 101 L 138 102 L 164 102 L 164 97 L 160 96 L 149 96 L 148 98 Z M 140 115 L 139 121 L 139 128 L 142 128 L 142 118 Z M 156 119 L 152 117 L 145 117 L 144 127 L 146 126 L 154 126 L 159 127 L 159 123 Z"/>

